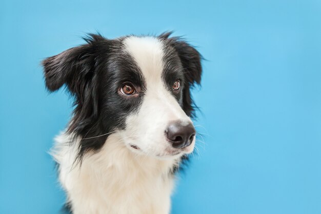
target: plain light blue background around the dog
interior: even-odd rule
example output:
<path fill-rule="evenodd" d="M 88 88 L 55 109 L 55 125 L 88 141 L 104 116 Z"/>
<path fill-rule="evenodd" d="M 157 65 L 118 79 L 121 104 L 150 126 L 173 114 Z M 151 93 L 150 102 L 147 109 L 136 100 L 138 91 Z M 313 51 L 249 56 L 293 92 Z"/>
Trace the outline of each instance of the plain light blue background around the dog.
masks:
<path fill-rule="evenodd" d="M 44 57 L 175 30 L 197 46 L 198 154 L 172 213 L 321 213 L 321 2 L 0 1 L 0 213 L 58 213 L 47 153 L 72 101 L 44 87 Z M 202 138 L 200 138 L 201 141 Z"/>

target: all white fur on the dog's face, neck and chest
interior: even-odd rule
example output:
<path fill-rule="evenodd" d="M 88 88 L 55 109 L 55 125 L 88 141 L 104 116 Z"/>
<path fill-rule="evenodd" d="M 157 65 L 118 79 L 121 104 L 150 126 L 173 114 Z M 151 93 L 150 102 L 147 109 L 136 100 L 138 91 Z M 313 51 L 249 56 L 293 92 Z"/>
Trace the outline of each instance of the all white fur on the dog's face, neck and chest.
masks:
<path fill-rule="evenodd" d="M 179 150 L 165 138 L 170 121 L 191 120 L 162 82 L 162 43 L 154 37 L 132 36 L 125 45 L 147 82 L 142 106 L 128 116 L 126 130 L 110 134 L 101 150 L 86 153 L 81 165 L 74 163 L 79 141 L 70 144 L 66 133 L 56 138 L 53 157 L 74 214 L 168 214 L 171 169 L 194 148 L 195 140 Z"/>

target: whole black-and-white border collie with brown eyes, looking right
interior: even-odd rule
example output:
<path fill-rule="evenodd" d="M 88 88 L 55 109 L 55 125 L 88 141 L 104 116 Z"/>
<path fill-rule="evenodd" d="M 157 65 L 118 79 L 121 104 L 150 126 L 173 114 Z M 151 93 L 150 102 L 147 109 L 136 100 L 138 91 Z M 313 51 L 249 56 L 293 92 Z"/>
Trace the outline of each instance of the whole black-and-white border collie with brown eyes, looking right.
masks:
<path fill-rule="evenodd" d="M 195 144 L 190 88 L 200 54 L 171 33 L 99 34 L 43 61 L 74 98 L 53 157 L 74 214 L 168 214 L 174 172 Z"/>

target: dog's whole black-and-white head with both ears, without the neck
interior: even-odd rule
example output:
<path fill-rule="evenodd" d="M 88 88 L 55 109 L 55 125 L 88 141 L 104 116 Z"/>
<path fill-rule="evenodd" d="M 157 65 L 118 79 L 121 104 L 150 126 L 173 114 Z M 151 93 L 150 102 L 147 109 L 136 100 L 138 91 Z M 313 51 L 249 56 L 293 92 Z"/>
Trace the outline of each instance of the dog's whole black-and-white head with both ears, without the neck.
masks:
<path fill-rule="evenodd" d="M 75 97 L 68 131 L 81 137 L 79 156 L 118 132 L 133 152 L 177 158 L 192 152 L 190 87 L 199 84 L 200 55 L 169 33 L 107 40 L 85 38 L 43 62 L 50 91 L 64 84 Z"/>

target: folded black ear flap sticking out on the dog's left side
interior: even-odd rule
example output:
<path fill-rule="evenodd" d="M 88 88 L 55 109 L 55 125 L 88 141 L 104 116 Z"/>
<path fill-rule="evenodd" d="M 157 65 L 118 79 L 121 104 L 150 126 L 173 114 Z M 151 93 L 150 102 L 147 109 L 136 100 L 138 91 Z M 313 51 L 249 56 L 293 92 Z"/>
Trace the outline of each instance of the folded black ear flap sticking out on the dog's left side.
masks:
<path fill-rule="evenodd" d="M 65 84 L 72 94 L 78 95 L 94 76 L 96 47 L 107 40 L 99 34 L 89 34 L 84 40 L 87 44 L 70 48 L 42 62 L 49 91 L 58 90 Z"/>

